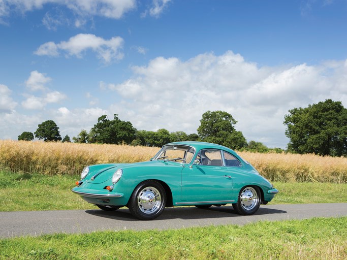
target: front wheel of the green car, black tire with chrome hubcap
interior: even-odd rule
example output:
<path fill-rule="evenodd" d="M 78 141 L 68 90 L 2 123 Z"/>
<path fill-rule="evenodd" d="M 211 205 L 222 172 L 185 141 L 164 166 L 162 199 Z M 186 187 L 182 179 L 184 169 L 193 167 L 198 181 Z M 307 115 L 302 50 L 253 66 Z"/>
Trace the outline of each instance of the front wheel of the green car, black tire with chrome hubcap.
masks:
<path fill-rule="evenodd" d="M 134 190 L 129 200 L 132 215 L 141 220 L 159 217 L 165 209 L 166 193 L 157 181 L 144 181 Z"/>

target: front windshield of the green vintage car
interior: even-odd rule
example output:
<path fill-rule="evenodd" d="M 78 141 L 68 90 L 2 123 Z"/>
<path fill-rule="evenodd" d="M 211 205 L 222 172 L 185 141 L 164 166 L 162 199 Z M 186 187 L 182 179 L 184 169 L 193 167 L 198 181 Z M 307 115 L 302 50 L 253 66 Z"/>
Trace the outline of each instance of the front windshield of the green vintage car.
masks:
<path fill-rule="evenodd" d="M 171 160 L 177 163 L 189 164 L 193 158 L 195 149 L 186 145 L 165 145 L 153 157 L 153 160 Z"/>

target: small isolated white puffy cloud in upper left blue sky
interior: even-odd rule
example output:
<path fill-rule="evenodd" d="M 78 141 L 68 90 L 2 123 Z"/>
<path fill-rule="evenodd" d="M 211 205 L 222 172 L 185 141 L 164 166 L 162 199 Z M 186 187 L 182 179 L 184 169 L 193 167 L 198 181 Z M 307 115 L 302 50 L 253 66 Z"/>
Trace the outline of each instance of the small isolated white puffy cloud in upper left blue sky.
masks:
<path fill-rule="evenodd" d="M 81 58 L 87 50 L 91 50 L 104 63 L 110 63 L 123 58 L 123 53 L 120 51 L 123 42 L 121 37 L 112 37 L 110 40 L 105 40 L 92 34 L 78 34 L 71 37 L 69 41 L 61 41 L 57 44 L 54 42 L 44 43 L 34 54 L 58 56 L 59 51 L 61 51 L 66 53 L 67 56 Z"/>

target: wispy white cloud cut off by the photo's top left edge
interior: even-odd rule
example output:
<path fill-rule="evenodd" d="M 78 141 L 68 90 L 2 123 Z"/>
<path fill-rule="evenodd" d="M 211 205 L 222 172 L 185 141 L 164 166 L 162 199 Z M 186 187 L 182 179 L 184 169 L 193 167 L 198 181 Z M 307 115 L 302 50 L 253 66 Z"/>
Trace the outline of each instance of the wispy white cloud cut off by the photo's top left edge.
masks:
<path fill-rule="evenodd" d="M 24 14 L 39 10 L 49 4 L 68 8 L 79 17 L 102 16 L 111 19 L 119 19 L 136 8 L 136 0 L 2 0 L 0 18 L 10 15 L 11 12 Z M 51 18 L 46 17 L 48 24 L 51 24 Z M 57 19 L 53 17 L 53 20 L 53 24 L 57 25 Z"/>

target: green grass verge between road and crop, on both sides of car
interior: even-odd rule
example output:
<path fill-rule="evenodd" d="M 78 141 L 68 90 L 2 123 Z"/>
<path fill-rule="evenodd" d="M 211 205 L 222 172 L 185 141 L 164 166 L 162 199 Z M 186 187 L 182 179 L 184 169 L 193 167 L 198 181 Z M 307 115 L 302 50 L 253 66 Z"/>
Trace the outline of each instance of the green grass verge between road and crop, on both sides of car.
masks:
<path fill-rule="evenodd" d="M 71 192 L 79 176 L 0 172 L 0 211 L 93 209 Z M 347 202 L 347 184 L 274 182 L 270 204 Z"/>

